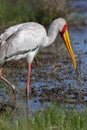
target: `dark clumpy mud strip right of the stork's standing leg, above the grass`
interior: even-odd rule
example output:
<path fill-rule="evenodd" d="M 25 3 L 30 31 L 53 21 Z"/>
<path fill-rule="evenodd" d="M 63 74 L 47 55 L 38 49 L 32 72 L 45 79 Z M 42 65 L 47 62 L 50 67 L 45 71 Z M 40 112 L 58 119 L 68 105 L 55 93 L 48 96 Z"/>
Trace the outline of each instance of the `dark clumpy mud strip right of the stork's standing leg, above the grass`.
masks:
<path fill-rule="evenodd" d="M 87 103 L 87 92 L 84 90 L 77 90 L 73 88 L 66 89 L 51 88 L 43 89 L 39 95 L 40 101 L 53 101 L 57 103 Z"/>

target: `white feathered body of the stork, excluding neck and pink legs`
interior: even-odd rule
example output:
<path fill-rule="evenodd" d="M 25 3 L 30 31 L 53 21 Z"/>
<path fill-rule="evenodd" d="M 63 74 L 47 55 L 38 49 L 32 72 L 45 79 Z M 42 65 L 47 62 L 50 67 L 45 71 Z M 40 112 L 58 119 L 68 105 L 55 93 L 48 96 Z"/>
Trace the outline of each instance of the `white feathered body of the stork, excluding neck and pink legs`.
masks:
<path fill-rule="evenodd" d="M 23 23 L 8 28 L 1 34 L 0 38 L 2 41 L 1 48 L 3 46 L 5 49 L 4 54 L 1 54 L 0 51 L 0 54 L 3 55 L 0 62 L 27 57 L 28 62 L 31 63 L 37 50 L 43 44 L 43 41 L 45 42 L 46 31 L 40 24 Z"/>

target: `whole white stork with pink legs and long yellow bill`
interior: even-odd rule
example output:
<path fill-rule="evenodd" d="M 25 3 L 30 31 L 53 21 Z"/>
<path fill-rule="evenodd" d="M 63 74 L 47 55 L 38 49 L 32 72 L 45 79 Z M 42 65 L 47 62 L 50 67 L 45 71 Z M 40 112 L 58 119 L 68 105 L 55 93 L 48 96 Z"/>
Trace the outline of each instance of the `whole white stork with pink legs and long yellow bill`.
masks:
<path fill-rule="evenodd" d="M 65 25 L 65 20 L 59 18 L 52 22 L 48 33 L 42 25 L 34 22 L 23 23 L 8 28 L 0 36 L 0 78 L 10 84 L 10 82 L 2 76 L 2 65 L 5 61 L 19 60 L 25 57 L 28 62 L 26 90 L 27 93 L 29 93 L 31 63 L 38 52 L 38 49 L 40 47 L 46 47 L 52 44 L 56 39 L 58 32 L 61 32 L 63 36 L 67 30 Z M 64 41 L 68 43 L 70 42 L 69 39 L 64 39 Z M 76 67 L 75 58 L 70 43 L 67 48 L 72 58 L 74 67 Z M 12 84 L 10 85 L 14 89 L 14 86 Z"/>

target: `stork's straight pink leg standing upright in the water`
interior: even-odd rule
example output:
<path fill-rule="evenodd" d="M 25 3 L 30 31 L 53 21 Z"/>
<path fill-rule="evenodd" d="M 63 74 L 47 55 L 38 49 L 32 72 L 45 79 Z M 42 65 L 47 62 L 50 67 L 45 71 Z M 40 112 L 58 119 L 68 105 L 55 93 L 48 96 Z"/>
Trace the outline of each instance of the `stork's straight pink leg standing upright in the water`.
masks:
<path fill-rule="evenodd" d="M 27 85 L 26 85 L 27 97 L 29 96 L 29 92 L 30 92 L 30 71 L 31 71 L 31 64 L 28 64 Z"/>

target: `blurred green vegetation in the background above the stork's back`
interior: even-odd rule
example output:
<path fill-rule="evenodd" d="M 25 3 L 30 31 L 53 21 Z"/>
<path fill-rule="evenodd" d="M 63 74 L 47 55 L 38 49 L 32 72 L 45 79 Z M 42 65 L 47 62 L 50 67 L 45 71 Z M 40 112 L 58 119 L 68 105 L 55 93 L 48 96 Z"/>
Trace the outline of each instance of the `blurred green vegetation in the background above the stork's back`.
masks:
<path fill-rule="evenodd" d="M 63 11 L 65 5 L 62 5 L 62 1 L 60 2 L 62 5 L 61 9 L 55 8 L 55 2 L 54 5 L 50 4 L 50 8 L 49 2 L 47 3 L 41 0 L 0 0 L 0 26 L 7 27 L 27 21 L 37 21 L 49 25 L 53 19 L 65 16 L 65 10 Z M 50 3 L 52 3 L 52 1 L 50 1 Z M 60 11 L 62 13 L 60 13 Z"/>

